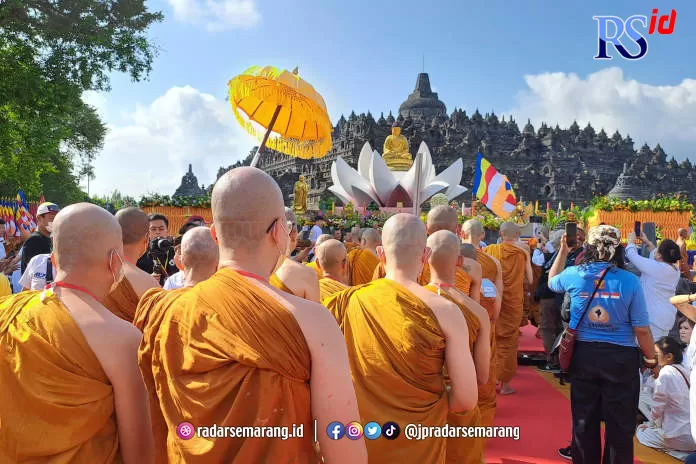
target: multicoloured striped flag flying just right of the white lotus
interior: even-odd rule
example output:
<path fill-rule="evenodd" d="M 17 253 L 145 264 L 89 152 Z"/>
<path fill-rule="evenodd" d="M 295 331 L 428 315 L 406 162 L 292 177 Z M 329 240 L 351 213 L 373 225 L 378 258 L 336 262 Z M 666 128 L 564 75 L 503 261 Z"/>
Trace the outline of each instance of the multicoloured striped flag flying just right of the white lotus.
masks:
<path fill-rule="evenodd" d="M 502 218 L 510 217 L 517 207 L 512 184 L 481 153 L 476 159 L 473 191 L 481 203 Z"/>

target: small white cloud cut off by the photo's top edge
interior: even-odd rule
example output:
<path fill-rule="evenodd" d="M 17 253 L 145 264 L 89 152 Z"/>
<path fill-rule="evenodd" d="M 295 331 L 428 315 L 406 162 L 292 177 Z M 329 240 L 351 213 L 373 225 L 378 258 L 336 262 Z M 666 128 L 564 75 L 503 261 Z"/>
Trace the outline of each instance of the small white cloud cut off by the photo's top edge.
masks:
<path fill-rule="evenodd" d="M 210 32 L 256 26 L 256 0 L 169 0 L 178 21 L 202 24 Z"/>

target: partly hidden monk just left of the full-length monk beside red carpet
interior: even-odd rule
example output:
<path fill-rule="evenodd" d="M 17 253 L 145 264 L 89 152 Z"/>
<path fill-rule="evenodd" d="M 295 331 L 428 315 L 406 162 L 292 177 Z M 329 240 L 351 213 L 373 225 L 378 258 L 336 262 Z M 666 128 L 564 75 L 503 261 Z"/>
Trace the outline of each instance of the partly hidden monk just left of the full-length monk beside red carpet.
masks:
<path fill-rule="evenodd" d="M 500 306 L 502 303 L 503 270 L 497 259 L 481 250 L 481 240 L 483 240 L 483 236 L 483 225 L 481 225 L 479 221 L 471 219 L 462 225 L 462 242 L 465 245 L 470 245 L 476 250 L 477 261 L 481 265 L 481 306 L 488 312 L 488 318 L 491 321 L 491 363 L 488 380 L 485 384 L 479 385 L 478 402 L 478 407 L 481 411 L 481 424 L 490 427 L 493 425 L 497 404 L 496 384 L 498 380 L 495 372 L 495 321 L 500 314 Z"/>

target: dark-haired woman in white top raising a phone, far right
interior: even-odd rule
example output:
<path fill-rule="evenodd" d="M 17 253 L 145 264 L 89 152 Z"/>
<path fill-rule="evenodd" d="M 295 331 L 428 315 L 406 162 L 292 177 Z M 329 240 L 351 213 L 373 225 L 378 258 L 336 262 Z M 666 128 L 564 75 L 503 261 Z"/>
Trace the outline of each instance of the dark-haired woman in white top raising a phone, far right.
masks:
<path fill-rule="evenodd" d="M 638 254 L 633 232 L 628 234 L 626 257 L 640 271 L 640 285 L 650 315 L 650 330 L 657 340 L 666 337 L 674 327 L 677 311 L 669 299 L 674 296 L 679 282 L 679 269 L 674 263 L 679 261 L 681 254 L 679 246 L 672 240 L 663 240 L 655 249 L 645 234 L 641 234 L 641 239 L 650 250 L 650 258 Z"/>

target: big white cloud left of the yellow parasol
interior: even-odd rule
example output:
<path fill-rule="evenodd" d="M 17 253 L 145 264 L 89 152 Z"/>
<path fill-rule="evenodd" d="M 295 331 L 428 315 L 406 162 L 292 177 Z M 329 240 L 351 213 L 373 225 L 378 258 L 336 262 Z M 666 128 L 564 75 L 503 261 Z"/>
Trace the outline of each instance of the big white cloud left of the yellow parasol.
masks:
<path fill-rule="evenodd" d="M 190 87 L 173 87 L 149 105 L 137 105 L 124 125 L 109 124 L 95 161 L 91 194 L 118 189 L 172 195 L 189 163 L 199 184 L 245 158 L 254 140 L 243 132 L 228 102 Z"/>

